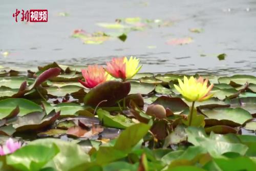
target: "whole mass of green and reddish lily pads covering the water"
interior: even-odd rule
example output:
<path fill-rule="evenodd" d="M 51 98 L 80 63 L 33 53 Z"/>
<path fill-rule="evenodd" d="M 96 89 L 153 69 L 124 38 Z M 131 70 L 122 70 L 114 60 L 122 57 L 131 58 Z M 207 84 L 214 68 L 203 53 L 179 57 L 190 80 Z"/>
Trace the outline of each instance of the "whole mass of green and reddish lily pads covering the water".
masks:
<path fill-rule="evenodd" d="M 183 75 L 138 73 L 84 88 L 80 69 L 2 71 L 1 170 L 255 170 L 256 77 L 204 75 L 213 97 L 189 106 Z M 202 76 L 202 75 L 201 75 Z M 199 75 L 194 75 L 199 78 Z"/>

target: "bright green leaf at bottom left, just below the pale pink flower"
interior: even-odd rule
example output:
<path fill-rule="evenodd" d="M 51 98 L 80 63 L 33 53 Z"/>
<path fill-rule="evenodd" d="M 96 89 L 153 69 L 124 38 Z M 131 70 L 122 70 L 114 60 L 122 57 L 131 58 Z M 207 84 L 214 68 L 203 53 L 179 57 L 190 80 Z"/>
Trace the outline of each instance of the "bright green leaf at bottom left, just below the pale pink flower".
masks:
<path fill-rule="evenodd" d="M 8 165 L 18 170 L 40 170 L 59 153 L 56 144 L 44 146 L 40 144 L 27 145 L 6 157 Z"/>

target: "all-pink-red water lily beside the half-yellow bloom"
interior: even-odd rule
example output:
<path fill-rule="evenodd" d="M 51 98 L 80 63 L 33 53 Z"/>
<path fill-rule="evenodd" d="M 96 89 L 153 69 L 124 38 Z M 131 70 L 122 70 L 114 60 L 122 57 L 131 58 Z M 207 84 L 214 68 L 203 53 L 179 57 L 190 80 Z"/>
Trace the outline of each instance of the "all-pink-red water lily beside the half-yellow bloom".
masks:
<path fill-rule="evenodd" d="M 103 69 L 102 66 L 98 65 L 88 66 L 87 69 L 82 69 L 82 76 L 85 81 L 78 80 L 86 88 L 94 88 L 98 84 L 105 82 L 110 79 L 110 75 Z"/>

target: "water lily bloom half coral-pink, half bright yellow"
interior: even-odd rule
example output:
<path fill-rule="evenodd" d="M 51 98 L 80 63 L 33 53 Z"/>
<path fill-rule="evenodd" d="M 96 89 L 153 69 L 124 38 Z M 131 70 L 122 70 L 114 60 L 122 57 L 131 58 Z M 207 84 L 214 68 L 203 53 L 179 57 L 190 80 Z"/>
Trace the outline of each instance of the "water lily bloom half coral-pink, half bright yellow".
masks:
<path fill-rule="evenodd" d="M 112 58 L 111 62 L 106 62 L 106 71 L 115 78 L 129 79 L 141 69 L 139 62 L 139 59 L 133 56 L 129 59 L 127 57 Z"/>

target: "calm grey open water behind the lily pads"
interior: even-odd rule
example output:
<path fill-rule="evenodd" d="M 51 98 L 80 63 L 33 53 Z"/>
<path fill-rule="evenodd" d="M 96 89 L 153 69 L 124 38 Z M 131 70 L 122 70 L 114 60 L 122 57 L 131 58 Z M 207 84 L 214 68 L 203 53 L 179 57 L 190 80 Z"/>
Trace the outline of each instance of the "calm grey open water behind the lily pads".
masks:
<path fill-rule="evenodd" d="M 48 9 L 48 23 L 15 22 L 19 9 Z M 58 16 L 59 12 L 70 15 Z M 20 16 L 20 15 L 19 15 Z M 170 27 L 134 31 L 125 42 L 85 45 L 71 37 L 75 29 L 109 31 L 96 25 L 116 18 L 141 17 L 174 21 Z M 135 55 L 141 72 L 256 75 L 256 1 L 9 1 L 0 2 L 0 65 L 30 69 L 57 61 L 63 65 L 103 64 L 116 56 Z M 188 29 L 201 28 L 202 33 Z M 170 38 L 192 37 L 183 46 L 167 45 Z M 156 46 L 148 49 L 148 46 Z M 225 53 L 225 60 L 218 54 Z M 204 54 L 206 56 L 201 56 Z"/>

